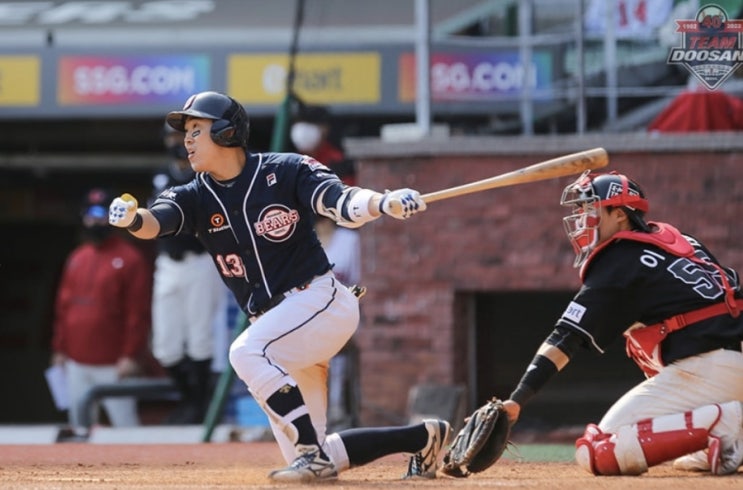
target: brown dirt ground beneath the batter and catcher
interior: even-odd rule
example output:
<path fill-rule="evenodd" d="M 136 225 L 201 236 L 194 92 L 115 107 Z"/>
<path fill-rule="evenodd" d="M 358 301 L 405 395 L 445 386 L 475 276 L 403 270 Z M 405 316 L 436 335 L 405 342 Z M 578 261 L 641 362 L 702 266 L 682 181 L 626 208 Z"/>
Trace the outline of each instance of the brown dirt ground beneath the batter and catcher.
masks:
<path fill-rule="evenodd" d="M 407 459 L 389 456 L 344 472 L 337 482 L 313 489 L 384 488 L 554 488 L 686 489 L 741 488 L 743 473 L 729 477 L 688 474 L 670 465 L 640 477 L 594 477 L 573 463 L 523 463 L 504 459 L 466 479 L 400 479 Z M 282 466 L 276 444 L 221 443 L 124 445 L 63 443 L 0 446 L 3 489 L 202 489 L 307 488 L 275 485 L 266 474 Z"/>

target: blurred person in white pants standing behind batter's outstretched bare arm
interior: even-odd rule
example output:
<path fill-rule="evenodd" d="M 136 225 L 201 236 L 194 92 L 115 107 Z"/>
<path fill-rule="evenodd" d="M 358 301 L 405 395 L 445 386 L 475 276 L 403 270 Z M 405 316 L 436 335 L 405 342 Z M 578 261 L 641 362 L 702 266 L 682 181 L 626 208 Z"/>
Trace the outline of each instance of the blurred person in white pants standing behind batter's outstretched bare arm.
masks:
<path fill-rule="evenodd" d="M 153 198 L 168 187 L 185 184 L 195 173 L 183 145 L 183 133 L 165 124 L 165 168 L 152 179 Z M 220 307 L 227 291 L 211 257 L 194 236 L 157 240 L 152 296 L 152 350 L 180 395 L 166 424 L 200 424 L 212 391 L 215 359 L 226 360 L 228 345 L 217 345 Z M 220 352 L 216 352 L 219 349 Z M 225 361 L 226 363 L 226 361 Z M 215 366 L 216 367 L 216 366 Z"/>

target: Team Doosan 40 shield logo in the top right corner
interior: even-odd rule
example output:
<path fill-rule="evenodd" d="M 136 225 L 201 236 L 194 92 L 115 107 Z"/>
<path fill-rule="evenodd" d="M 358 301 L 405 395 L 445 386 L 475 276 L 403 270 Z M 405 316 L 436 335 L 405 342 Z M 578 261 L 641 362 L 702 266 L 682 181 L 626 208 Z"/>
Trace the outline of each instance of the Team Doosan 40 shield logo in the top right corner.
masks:
<path fill-rule="evenodd" d="M 677 20 L 681 46 L 668 63 L 683 65 L 709 90 L 717 89 L 743 62 L 743 20 L 728 19 L 719 5 L 705 5 L 696 19 Z"/>

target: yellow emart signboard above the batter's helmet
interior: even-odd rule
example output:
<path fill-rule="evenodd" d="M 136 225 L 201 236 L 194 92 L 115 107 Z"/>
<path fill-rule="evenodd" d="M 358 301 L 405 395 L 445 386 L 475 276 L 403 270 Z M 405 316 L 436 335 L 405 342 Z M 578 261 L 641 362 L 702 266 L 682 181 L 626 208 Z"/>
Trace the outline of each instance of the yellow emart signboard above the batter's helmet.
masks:
<path fill-rule="evenodd" d="M 377 104 L 381 63 L 376 52 L 299 54 L 294 91 L 314 104 Z M 288 67 L 286 55 L 230 55 L 227 91 L 244 104 L 277 104 L 286 94 Z"/>

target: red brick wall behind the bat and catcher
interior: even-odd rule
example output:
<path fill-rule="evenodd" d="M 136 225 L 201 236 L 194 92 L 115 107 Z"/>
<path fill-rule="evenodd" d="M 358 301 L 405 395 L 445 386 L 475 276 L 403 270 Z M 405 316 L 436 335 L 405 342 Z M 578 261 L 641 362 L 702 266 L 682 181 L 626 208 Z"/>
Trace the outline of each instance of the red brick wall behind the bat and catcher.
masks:
<path fill-rule="evenodd" d="M 512 171 L 596 146 L 607 170 L 635 179 L 651 220 L 703 239 L 743 270 L 743 138 L 736 134 L 478 138 L 383 144 L 356 140 L 359 182 L 422 193 Z M 562 228 L 562 189 L 575 177 L 493 189 L 431 203 L 409 221 L 381 219 L 361 229 L 362 422 L 406 418 L 419 383 L 467 383 L 467 292 L 576 290 L 574 254 Z M 464 295 L 458 293 L 465 293 Z M 537 306 L 538 307 L 538 306 Z"/>

